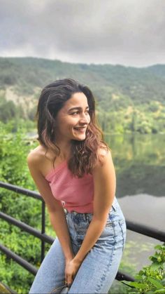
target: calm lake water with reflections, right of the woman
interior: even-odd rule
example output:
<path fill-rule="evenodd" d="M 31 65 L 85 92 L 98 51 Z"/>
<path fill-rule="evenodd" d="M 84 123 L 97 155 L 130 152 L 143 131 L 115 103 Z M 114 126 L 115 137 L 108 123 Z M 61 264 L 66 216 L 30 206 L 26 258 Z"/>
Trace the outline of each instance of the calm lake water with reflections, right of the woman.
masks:
<path fill-rule="evenodd" d="M 105 140 L 112 150 L 116 196 L 125 217 L 165 231 L 165 136 L 106 135 Z M 123 262 L 137 272 L 150 264 L 148 257 L 157 243 L 161 242 L 127 231 Z"/>

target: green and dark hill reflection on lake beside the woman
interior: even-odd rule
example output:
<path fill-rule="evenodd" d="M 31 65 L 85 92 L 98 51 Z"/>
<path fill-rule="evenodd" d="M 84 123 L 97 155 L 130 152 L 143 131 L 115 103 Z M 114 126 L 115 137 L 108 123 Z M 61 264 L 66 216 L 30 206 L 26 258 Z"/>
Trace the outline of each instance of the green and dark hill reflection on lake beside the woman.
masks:
<path fill-rule="evenodd" d="M 117 197 L 165 195 L 165 136 L 106 135 L 117 175 Z"/>

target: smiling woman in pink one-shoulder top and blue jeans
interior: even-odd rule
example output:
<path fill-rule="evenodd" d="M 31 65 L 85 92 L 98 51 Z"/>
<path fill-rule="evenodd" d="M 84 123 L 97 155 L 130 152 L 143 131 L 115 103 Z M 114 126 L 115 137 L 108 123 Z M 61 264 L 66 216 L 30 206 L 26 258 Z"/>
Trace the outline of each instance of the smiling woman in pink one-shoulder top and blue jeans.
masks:
<path fill-rule="evenodd" d="M 30 293 L 108 293 L 122 258 L 126 227 L 115 198 L 115 169 L 87 86 L 62 79 L 43 88 L 31 176 L 57 234 Z"/>

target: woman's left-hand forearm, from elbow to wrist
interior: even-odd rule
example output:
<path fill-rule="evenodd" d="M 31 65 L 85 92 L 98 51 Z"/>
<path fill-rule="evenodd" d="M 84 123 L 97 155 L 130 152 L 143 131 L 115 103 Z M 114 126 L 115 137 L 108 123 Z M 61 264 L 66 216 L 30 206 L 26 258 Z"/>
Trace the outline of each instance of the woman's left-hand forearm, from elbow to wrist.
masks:
<path fill-rule="evenodd" d="M 62 245 L 62 250 L 66 260 L 72 260 L 74 257 L 73 249 L 71 246 L 71 239 L 69 235 L 69 229 L 66 222 L 66 215 L 64 209 L 58 209 L 55 212 L 49 212 L 50 222 L 55 229 L 59 242 Z"/>

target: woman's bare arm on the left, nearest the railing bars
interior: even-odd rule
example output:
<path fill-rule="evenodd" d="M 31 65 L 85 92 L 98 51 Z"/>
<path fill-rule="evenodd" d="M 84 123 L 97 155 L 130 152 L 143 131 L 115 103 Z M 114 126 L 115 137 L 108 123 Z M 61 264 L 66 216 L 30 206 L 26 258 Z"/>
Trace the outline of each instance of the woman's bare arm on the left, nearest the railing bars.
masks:
<path fill-rule="evenodd" d="M 36 187 L 38 188 L 41 196 L 43 196 L 43 199 L 48 208 L 50 222 L 52 223 L 52 227 L 55 229 L 57 237 L 62 245 L 66 262 L 68 260 L 72 260 L 74 255 L 71 246 L 71 239 L 69 236 L 69 229 L 66 222 L 66 216 L 64 213 L 64 209 L 62 208 L 62 203 L 60 201 L 57 201 L 52 195 L 52 191 L 50 189 L 48 181 L 45 180 L 40 169 L 38 168 L 38 156 L 31 152 L 27 157 L 27 163 L 31 176 L 36 183 Z"/>

